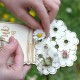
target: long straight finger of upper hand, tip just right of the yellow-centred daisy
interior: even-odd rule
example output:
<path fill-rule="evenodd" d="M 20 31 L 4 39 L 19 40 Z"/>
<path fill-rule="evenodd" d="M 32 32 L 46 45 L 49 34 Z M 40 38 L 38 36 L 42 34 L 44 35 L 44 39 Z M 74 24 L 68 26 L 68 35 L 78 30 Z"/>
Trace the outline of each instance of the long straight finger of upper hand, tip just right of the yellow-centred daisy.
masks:
<path fill-rule="evenodd" d="M 44 4 L 42 2 L 38 2 L 38 3 L 32 3 L 31 6 L 39 16 L 43 30 L 45 31 L 46 36 L 48 37 L 50 21 L 49 21 L 49 16 Z"/>

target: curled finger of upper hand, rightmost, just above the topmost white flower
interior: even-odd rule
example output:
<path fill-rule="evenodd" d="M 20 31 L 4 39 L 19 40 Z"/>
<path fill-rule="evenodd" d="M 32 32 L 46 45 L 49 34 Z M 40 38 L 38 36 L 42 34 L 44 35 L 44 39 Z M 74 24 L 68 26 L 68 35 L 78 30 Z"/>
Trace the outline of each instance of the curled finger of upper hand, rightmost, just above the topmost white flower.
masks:
<path fill-rule="evenodd" d="M 58 0 L 43 0 L 44 5 L 46 6 L 46 8 L 49 11 L 49 18 L 50 18 L 50 22 L 53 21 L 53 19 L 56 17 L 57 12 L 59 10 L 59 3 Z"/>

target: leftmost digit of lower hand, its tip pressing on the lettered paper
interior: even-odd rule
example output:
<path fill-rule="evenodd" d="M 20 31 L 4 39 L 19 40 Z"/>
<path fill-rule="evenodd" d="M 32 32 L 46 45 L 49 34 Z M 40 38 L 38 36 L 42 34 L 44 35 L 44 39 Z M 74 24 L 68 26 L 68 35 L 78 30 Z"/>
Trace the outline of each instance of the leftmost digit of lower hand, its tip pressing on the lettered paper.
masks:
<path fill-rule="evenodd" d="M 10 43 L 6 45 L 0 52 L 0 60 L 3 63 L 7 63 L 7 60 L 9 59 L 10 55 L 16 51 L 17 46 L 17 40 L 13 37 L 10 37 Z"/>

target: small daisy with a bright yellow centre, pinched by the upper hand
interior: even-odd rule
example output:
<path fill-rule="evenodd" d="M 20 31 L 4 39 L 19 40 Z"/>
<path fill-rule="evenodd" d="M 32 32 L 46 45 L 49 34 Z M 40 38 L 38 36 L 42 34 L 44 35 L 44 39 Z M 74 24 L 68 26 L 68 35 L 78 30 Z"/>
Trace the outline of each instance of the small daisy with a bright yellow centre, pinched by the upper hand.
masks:
<path fill-rule="evenodd" d="M 33 38 L 35 41 L 41 41 L 45 38 L 45 33 L 41 29 L 37 29 L 33 33 Z"/>

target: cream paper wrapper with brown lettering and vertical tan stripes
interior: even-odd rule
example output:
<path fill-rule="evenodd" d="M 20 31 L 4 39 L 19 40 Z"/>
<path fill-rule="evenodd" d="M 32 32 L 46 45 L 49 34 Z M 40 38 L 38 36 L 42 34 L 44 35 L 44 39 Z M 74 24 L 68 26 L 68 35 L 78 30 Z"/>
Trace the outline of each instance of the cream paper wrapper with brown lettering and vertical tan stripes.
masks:
<path fill-rule="evenodd" d="M 0 23 L 0 49 L 9 42 L 10 36 L 14 36 L 23 50 L 24 63 L 34 64 L 35 51 L 32 34 L 33 31 L 27 26 L 2 22 Z M 12 63 L 11 59 L 9 60 L 9 63 Z"/>

